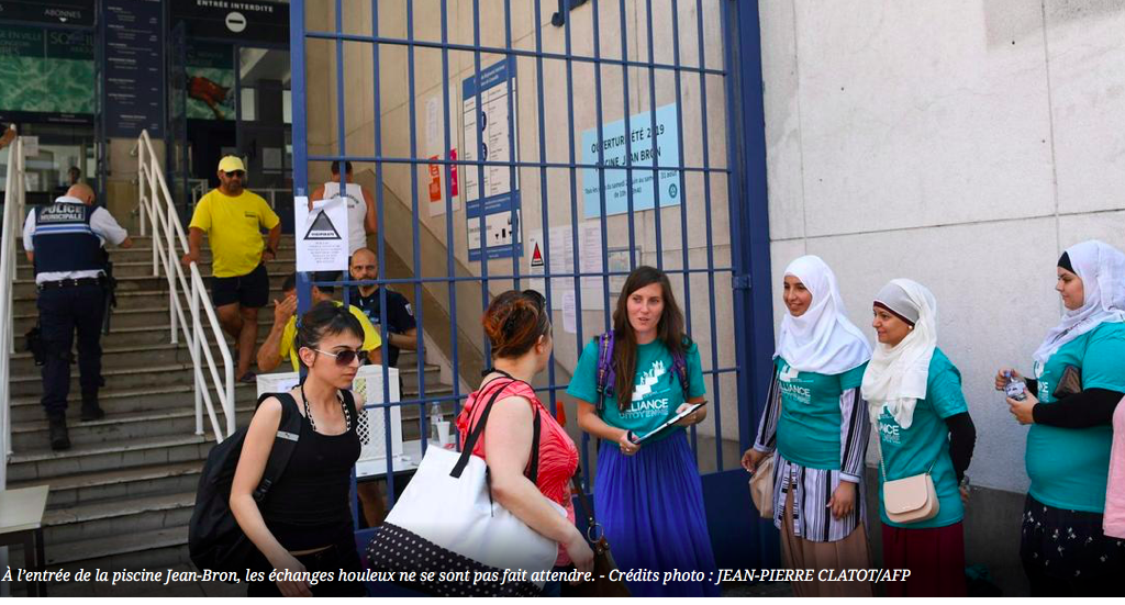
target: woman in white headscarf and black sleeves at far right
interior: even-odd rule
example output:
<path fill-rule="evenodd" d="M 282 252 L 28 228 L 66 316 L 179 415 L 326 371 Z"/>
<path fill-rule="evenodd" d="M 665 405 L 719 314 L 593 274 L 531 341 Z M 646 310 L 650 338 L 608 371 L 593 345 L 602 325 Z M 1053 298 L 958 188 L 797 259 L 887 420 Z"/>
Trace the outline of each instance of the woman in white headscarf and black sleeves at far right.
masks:
<path fill-rule="evenodd" d="M 1032 424 L 1019 554 L 1034 596 L 1119 595 L 1125 541 L 1107 538 L 1102 523 L 1112 422 L 1125 396 L 1125 254 L 1082 242 L 1056 273 L 1062 320 L 1035 351 L 1026 398 L 1008 399 Z M 1022 379 L 1001 369 L 998 389 L 1008 377 Z"/>

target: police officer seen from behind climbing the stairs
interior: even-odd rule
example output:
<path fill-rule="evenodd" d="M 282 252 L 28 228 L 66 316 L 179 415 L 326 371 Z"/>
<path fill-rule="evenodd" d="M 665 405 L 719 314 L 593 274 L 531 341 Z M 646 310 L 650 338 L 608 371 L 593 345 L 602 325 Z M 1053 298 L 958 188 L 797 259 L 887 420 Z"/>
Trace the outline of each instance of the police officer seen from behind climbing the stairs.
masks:
<path fill-rule="evenodd" d="M 35 208 L 24 224 L 24 249 L 35 265 L 43 364 L 43 407 L 51 423 L 51 449 L 66 450 L 66 396 L 71 345 L 78 329 L 82 421 L 105 416 L 98 405 L 101 381 L 101 322 L 106 310 L 106 242 L 132 247 L 133 241 L 105 208 L 93 206 L 90 186 L 72 186 L 51 206 Z"/>

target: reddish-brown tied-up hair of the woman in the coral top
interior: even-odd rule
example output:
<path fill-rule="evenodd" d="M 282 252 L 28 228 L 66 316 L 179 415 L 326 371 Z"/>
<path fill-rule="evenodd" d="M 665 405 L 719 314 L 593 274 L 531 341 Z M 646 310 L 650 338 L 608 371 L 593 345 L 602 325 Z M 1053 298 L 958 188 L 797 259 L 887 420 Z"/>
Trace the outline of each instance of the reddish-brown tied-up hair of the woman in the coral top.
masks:
<path fill-rule="evenodd" d="M 534 290 L 507 290 L 493 299 L 480 324 L 493 359 L 523 356 L 551 332 L 547 301 Z"/>

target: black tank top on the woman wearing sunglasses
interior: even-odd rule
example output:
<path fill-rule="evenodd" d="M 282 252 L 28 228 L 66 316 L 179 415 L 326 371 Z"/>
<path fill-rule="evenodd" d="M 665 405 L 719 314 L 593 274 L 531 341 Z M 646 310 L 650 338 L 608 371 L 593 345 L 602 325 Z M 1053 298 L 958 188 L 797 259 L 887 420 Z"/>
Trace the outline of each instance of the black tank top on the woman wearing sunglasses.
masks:
<path fill-rule="evenodd" d="M 354 399 L 343 396 L 351 428 L 322 435 L 302 417 L 300 439 L 269 496 L 259 503 L 266 526 L 286 550 L 308 550 L 348 540 L 354 531 L 349 494 L 361 444 Z M 300 406 L 302 404 L 298 404 Z"/>

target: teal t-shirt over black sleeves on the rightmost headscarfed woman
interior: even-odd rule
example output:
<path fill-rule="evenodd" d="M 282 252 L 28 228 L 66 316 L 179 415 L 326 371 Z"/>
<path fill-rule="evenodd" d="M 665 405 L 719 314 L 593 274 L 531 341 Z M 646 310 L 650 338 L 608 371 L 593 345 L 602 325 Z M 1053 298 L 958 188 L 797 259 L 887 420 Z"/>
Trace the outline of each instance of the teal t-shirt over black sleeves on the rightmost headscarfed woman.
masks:
<path fill-rule="evenodd" d="M 1081 370 L 1082 389 L 1125 391 L 1125 324 L 1101 324 L 1060 346 L 1042 368 L 1035 368 L 1041 403 L 1055 403 L 1051 394 L 1066 365 Z M 1100 514 L 1106 506 L 1113 439 L 1108 424 L 1090 428 L 1033 424 L 1024 454 L 1032 497 L 1055 508 Z"/>

